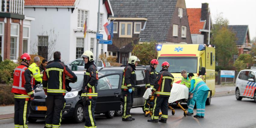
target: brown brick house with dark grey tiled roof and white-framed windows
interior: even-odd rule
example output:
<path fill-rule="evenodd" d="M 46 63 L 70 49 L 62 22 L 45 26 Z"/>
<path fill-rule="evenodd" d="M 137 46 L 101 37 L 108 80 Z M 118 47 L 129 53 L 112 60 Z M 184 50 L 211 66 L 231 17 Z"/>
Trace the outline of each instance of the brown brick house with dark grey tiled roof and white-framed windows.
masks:
<path fill-rule="evenodd" d="M 108 55 L 127 64 L 132 43 L 192 43 L 185 0 L 110 0 L 114 12 L 113 45 Z"/>

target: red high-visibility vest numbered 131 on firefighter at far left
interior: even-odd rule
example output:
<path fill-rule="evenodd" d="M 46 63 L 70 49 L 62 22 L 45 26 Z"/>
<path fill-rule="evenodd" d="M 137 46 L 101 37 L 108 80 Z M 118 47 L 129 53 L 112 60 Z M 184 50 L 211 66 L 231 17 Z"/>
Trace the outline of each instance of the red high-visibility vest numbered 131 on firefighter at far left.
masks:
<path fill-rule="evenodd" d="M 24 84 L 26 83 L 25 77 L 24 77 L 24 72 L 27 69 L 26 66 L 20 65 L 14 69 L 14 74 L 13 74 L 13 86 L 11 89 L 12 93 L 17 93 L 17 94 L 22 94 L 20 96 L 14 95 L 14 98 L 30 98 L 29 95 L 33 94 L 32 92 L 27 93 Z M 31 87 L 32 87 L 32 79 L 30 81 Z"/>

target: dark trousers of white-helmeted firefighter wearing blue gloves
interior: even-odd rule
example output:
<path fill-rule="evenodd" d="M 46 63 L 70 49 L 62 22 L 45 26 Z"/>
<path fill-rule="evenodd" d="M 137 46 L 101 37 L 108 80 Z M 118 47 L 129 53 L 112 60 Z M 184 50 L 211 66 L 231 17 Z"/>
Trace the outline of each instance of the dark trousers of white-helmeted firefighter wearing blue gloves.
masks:
<path fill-rule="evenodd" d="M 123 119 L 127 119 L 130 117 L 130 110 L 132 108 L 132 95 L 133 93 L 130 93 L 128 91 L 122 91 L 123 96 Z"/>

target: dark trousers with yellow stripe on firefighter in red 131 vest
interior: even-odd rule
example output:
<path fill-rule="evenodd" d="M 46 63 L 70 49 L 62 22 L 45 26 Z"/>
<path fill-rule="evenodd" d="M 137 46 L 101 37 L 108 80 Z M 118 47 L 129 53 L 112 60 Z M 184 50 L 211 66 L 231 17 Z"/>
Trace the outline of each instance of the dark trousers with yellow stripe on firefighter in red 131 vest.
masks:
<path fill-rule="evenodd" d="M 30 101 L 14 98 L 14 127 L 28 128 L 27 117 L 29 114 Z"/>

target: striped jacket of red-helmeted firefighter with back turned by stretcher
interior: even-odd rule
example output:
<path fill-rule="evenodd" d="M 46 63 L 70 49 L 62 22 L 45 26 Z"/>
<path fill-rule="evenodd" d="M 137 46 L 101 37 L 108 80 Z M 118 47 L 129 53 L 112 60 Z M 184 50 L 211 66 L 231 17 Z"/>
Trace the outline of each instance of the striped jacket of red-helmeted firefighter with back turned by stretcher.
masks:
<path fill-rule="evenodd" d="M 161 70 L 152 89 L 155 91 L 155 96 L 170 97 L 173 79 L 173 75 L 168 72 L 168 69 Z"/>

